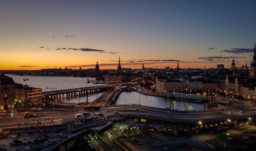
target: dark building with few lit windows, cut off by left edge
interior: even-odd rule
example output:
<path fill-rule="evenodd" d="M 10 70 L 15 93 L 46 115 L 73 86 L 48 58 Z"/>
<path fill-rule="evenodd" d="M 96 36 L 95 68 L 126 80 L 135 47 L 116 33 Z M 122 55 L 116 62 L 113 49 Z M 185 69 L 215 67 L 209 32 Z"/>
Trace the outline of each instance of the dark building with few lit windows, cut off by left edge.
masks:
<path fill-rule="evenodd" d="M 9 76 L 0 75 L 0 110 L 14 108 L 15 83 Z"/>

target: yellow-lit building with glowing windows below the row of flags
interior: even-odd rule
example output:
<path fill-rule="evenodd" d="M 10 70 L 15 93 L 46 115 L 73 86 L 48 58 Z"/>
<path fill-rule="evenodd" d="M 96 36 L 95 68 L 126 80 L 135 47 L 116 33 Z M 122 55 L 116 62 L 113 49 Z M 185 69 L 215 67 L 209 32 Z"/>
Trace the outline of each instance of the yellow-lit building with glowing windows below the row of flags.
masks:
<path fill-rule="evenodd" d="M 22 84 L 16 83 L 15 101 L 17 103 L 26 104 L 26 105 L 42 104 L 42 89 L 33 88 L 33 87 L 29 87 L 28 85 L 22 85 Z"/>

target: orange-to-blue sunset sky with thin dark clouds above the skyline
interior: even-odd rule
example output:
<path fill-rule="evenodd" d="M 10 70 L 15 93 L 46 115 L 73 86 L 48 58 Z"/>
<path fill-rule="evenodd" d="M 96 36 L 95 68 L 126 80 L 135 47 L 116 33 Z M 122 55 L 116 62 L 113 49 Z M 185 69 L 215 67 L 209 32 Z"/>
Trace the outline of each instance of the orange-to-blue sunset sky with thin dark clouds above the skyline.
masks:
<path fill-rule="evenodd" d="M 0 3 L 0 70 L 225 68 L 252 60 L 256 1 Z"/>

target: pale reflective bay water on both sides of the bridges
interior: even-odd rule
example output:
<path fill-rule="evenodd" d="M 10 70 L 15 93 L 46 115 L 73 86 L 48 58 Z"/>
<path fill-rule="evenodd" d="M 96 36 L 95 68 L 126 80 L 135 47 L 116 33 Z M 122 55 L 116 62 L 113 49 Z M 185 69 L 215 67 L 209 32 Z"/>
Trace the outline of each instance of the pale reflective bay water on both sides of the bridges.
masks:
<path fill-rule="evenodd" d="M 51 91 L 51 90 L 65 90 L 65 89 L 75 89 L 75 88 L 82 88 L 82 87 L 90 87 L 90 86 L 97 86 L 97 85 L 104 85 L 104 84 L 93 84 L 87 83 L 87 77 L 58 77 L 58 76 L 13 76 L 13 75 L 6 75 L 12 77 L 15 83 L 27 84 L 30 87 L 35 88 L 42 88 L 42 91 Z M 23 81 L 23 79 L 28 79 L 28 81 Z M 89 77 L 89 80 L 95 80 L 95 78 Z M 50 89 L 49 89 L 50 88 Z M 53 88 L 53 89 L 51 89 Z M 101 93 L 94 93 L 89 94 L 88 102 L 92 102 L 93 100 L 97 99 L 103 94 Z M 78 103 L 85 102 L 85 96 L 78 96 L 76 97 L 66 97 L 66 95 L 61 95 L 62 102 L 68 103 Z M 159 108 L 166 108 L 170 107 L 170 98 L 164 97 L 153 97 L 153 96 L 146 96 L 137 92 L 126 92 L 121 93 L 119 97 L 116 99 L 115 104 L 140 104 L 152 107 L 159 107 Z M 185 102 L 189 110 L 201 110 L 204 109 L 203 103 L 194 103 L 194 102 Z M 173 102 L 174 109 L 177 110 L 185 110 L 184 105 L 180 101 L 174 100 Z"/>

